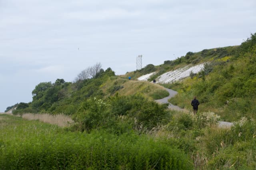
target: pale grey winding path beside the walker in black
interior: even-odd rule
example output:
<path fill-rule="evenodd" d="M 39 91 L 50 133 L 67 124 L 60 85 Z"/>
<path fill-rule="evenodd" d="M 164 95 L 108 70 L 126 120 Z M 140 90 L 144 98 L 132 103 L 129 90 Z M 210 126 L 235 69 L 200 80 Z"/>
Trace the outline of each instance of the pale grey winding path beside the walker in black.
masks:
<path fill-rule="evenodd" d="M 184 112 L 189 112 L 186 109 L 182 109 L 179 106 L 175 106 L 173 104 L 171 104 L 170 102 L 168 102 L 168 99 L 173 98 L 176 94 L 178 94 L 178 92 L 172 90 L 172 89 L 168 89 L 165 88 L 168 92 L 169 92 L 169 96 L 167 96 L 166 98 L 162 98 L 159 100 L 156 100 L 156 102 L 160 103 L 160 104 L 164 104 L 164 103 L 169 103 L 168 108 L 172 109 L 172 110 L 177 110 L 177 111 L 184 111 Z M 231 122 L 226 122 L 226 121 L 219 121 L 219 127 L 231 127 L 233 125 L 233 123 Z"/>

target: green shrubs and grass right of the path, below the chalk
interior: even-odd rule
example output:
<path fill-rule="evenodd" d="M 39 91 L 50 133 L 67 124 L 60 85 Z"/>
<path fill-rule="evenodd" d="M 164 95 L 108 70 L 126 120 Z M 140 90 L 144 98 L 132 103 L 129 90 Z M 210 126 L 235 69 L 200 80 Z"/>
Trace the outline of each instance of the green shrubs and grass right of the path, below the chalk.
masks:
<path fill-rule="evenodd" d="M 213 54 L 219 51 L 218 55 L 204 66 L 204 70 L 193 75 L 192 79 L 171 85 L 179 94 L 170 101 L 189 109 L 190 100 L 197 96 L 200 110 L 212 110 L 226 121 L 238 121 L 241 117 L 256 119 L 255 39 L 256 34 L 252 34 L 233 50 L 231 47 L 216 50 Z M 208 57 L 206 54 L 212 52 L 203 50 L 201 54 Z"/>

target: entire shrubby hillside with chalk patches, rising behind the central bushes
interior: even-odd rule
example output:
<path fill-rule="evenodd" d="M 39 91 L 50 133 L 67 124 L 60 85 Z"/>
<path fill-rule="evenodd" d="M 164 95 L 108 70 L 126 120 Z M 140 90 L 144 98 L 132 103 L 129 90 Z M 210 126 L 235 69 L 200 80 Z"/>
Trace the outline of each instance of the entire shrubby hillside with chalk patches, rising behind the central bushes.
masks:
<path fill-rule="evenodd" d="M 167 60 L 159 66 L 148 64 L 122 76 L 115 76 L 108 68 L 98 69 L 95 77 L 82 81 L 42 82 L 32 92 L 33 101 L 20 103 L 14 113 L 74 115 L 82 102 L 90 98 L 107 101 L 117 93 L 119 96 L 141 93 L 148 100 L 156 100 L 168 96 L 164 86 L 179 92 L 171 103 L 182 108 L 190 110 L 190 100 L 197 96 L 201 111 L 214 111 L 225 121 L 256 118 L 255 49 L 255 34 L 252 34 L 240 46 L 188 52 L 174 61 Z M 153 79 L 161 86 L 151 84 Z"/>

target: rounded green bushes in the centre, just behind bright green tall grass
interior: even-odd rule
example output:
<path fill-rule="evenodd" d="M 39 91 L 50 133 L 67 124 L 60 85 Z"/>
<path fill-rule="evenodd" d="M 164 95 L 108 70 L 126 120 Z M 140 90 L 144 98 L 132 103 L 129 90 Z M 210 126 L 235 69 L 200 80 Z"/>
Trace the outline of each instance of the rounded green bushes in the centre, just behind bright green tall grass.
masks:
<path fill-rule="evenodd" d="M 80 131 L 91 131 L 110 127 L 115 129 L 119 125 L 120 117 L 124 116 L 122 123 L 127 124 L 127 130 L 132 127 L 143 132 L 162 123 L 167 116 L 165 109 L 165 105 L 160 106 L 148 101 L 140 94 L 133 96 L 116 94 L 108 100 L 108 103 L 96 98 L 86 100 L 74 114 L 74 120 L 78 123 L 76 126 Z"/>

